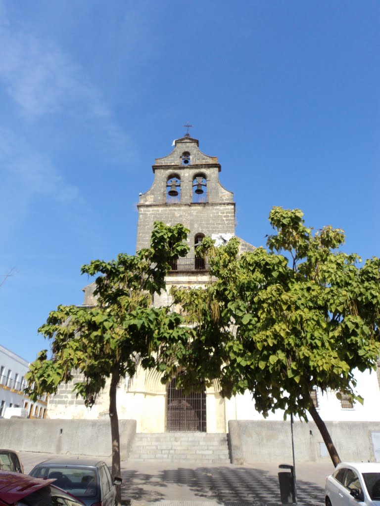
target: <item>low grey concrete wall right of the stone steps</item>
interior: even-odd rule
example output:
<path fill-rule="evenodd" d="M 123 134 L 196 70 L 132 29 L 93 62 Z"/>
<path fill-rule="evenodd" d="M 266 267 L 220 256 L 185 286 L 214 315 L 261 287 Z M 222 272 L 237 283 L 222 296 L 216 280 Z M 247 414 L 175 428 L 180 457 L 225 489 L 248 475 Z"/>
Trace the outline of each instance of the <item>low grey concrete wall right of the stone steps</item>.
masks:
<path fill-rule="evenodd" d="M 326 427 L 341 460 L 375 460 L 371 432 L 380 432 L 380 422 L 330 421 Z M 330 460 L 323 455 L 323 439 L 314 422 L 295 421 L 293 432 L 297 461 Z M 234 464 L 292 462 L 290 420 L 230 420 L 229 438 Z"/>

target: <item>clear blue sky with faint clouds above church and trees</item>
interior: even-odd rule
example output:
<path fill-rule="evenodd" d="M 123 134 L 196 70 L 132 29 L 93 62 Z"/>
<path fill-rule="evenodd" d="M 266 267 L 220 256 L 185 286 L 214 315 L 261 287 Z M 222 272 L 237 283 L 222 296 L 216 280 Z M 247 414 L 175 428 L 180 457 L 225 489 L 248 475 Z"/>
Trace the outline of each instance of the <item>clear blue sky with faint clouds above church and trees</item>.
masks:
<path fill-rule="evenodd" d="M 0 343 L 34 360 L 95 258 L 133 254 L 139 192 L 182 125 L 218 156 L 237 235 L 273 205 L 379 251 L 376 0 L 0 0 Z"/>

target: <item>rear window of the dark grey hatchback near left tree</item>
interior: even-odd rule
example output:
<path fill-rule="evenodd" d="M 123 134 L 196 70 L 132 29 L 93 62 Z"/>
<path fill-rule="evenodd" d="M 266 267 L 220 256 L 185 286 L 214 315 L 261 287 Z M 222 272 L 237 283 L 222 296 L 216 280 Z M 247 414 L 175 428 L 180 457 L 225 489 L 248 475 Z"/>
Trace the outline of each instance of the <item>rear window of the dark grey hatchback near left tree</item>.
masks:
<path fill-rule="evenodd" d="M 97 477 L 93 468 L 41 466 L 30 474 L 36 478 L 55 478 L 55 486 L 67 490 L 75 497 L 97 495 Z"/>

